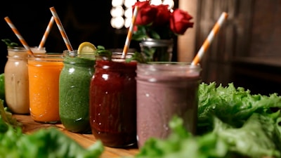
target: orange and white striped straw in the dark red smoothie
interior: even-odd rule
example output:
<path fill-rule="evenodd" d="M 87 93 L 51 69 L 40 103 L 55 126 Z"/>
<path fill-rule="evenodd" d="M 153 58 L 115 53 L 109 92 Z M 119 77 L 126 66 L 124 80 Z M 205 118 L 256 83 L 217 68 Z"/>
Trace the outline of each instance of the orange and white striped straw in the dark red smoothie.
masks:
<path fill-rule="evenodd" d="M 129 32 L 126 37 L 126 42 L 125 42 L 125 46 L 123 49 L 122 58 L 126 57 L 126 53 L 128 52 L 128 49 L 130 46 L 131 37 L 133 35 L 133 26 L 135 25 L 135 21 L 136 21 L 136 15 L 138 15 L 138 6 L 136 6 L 135 9 L 133 10 L 133 17 L 131 19 L 131 25 L 129 27 Z"/>

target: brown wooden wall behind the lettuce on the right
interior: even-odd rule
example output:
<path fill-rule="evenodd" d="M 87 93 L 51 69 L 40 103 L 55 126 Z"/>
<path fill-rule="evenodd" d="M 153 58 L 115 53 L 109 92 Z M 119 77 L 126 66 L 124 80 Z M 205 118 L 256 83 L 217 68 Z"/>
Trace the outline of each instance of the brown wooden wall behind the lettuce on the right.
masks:
<path fill-rule="evenodd" d="M 197 7 L 197 50 L 228 13 L 201 62 L 203 81 L 281 94 L 281 0 L 200 0 Z"/>

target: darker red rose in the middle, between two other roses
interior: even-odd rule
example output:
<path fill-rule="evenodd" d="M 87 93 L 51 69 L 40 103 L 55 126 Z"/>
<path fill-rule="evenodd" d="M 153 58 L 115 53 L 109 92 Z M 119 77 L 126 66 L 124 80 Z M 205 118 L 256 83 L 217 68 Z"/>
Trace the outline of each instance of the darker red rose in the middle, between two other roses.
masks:
<path fill-rule="evenodd" d="M 152 7 L 157 9 L 153 25 L 159 26 L 169 22 L 171 15 L 171 11 L 169 11 L 169 5 L 160 4 L 159 6 L 152 5 Z"/>

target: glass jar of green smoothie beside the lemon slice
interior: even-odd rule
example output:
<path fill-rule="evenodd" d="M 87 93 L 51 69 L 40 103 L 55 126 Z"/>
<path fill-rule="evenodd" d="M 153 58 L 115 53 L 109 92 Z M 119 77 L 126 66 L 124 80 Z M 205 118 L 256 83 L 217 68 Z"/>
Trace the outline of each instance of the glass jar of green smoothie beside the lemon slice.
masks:
<path fill-rule="evenodd" d="M 89 124 L 89 87 L 96 55 L 64 51 L 64 67 L 59 81 L 59 114 L 65 129 L 91 133 Z"/>

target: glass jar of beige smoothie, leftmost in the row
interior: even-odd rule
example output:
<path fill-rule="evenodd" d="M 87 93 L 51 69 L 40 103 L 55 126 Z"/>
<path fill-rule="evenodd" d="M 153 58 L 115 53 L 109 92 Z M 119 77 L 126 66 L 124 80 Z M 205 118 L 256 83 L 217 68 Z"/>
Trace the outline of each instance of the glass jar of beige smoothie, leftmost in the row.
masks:
<path fill-rule="evenodd" d="M 34 48 L 32 48 L 33 50 Z M 45 48 L 43 51 L 45 51 Z M 24 47 L 8 47 L 5 74 L 5 101 L 15 114 L 30 113 L 27 50 Z"/>

